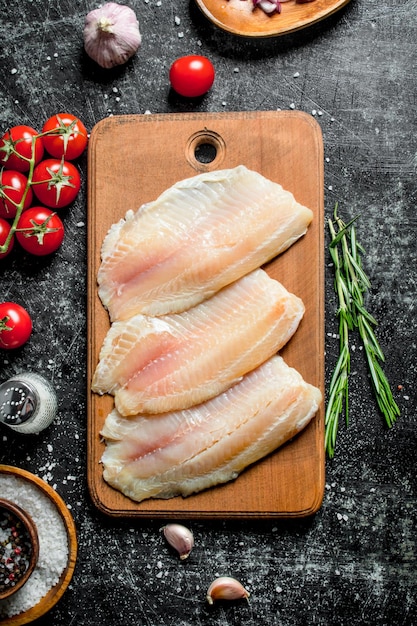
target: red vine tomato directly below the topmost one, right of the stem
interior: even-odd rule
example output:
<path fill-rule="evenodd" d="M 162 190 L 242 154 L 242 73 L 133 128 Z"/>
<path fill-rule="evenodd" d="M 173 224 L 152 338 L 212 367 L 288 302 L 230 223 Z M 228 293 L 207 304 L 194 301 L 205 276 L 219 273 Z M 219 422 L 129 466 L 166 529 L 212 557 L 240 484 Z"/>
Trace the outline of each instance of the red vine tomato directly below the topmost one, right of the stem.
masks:
<path fill-rule="evenodd" d="M 35 196 L 45 206 L 60 209 L 75 200 L 81 187 L 80 174 L 73 163 L 62 158 L 45 159 L 33 171 Z"/>

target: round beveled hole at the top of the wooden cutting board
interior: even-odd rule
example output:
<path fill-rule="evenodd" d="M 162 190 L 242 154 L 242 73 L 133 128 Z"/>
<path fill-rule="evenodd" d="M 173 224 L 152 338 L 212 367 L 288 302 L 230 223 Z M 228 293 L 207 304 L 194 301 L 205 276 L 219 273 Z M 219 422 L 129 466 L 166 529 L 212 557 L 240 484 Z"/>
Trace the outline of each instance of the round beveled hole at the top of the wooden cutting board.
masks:
<path fill-rule="evenodd" d="M 226 145 L 223 138 L 208 129 L 199 130 L 188 140 L 185 156 L 199 172 L 208 172 L 219 167 L 224 159 Z"/>

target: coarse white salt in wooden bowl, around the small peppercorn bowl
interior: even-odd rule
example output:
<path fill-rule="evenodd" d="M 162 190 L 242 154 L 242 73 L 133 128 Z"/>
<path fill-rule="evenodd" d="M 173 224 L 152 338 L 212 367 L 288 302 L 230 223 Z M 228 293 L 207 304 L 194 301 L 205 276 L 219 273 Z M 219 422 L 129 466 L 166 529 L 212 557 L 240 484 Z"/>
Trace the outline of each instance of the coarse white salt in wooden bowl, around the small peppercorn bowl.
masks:
<path fill-rule="evenodd" d="M 15 594 L 0 600 L 0 620 L 36 606 L 54 587 L 68 563 L 68 536 L 55 504 L 36 485 L 12 474 L 0 474 L 2 498 L 27 511 L 36 524 L 39 558 L 27 583 Z"/>

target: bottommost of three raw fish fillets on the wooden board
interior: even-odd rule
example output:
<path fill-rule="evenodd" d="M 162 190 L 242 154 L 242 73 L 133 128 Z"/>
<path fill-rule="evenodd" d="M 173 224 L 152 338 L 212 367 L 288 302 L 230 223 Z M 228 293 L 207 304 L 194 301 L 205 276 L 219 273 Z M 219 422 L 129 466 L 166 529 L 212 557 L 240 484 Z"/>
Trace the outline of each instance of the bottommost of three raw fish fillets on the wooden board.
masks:
<path fill-rule="evenodd" d="M 132 418 L 113 410 L 101 432 L 104 479 L 138 502 L 225 483 L 294 437 L 321 401 L 319 389 L 274 356 L 191 409 Z"/>

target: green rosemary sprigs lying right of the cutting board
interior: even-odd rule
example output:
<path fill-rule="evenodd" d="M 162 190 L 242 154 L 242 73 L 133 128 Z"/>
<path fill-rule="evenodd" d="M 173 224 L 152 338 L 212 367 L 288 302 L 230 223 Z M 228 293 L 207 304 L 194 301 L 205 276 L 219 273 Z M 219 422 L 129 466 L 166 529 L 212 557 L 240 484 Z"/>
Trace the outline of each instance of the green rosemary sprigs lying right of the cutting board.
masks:
<path fill-rule="evenodd" d="M 375 318 L 366 310 L 364 294 L 371 284 L 362 268 L 361 255 L 364 249 L 356 239 L 355 221 L 345 224 L 337 213 L 335 205 L 333 221 L 329 220 L 331 243 L 330 255 L 334 264 L 334 288 L 339 307 L 339 357 L 330 381 L 329 397 L 325 415 L 325 447 L 330 458 L 334 456 L 339 418 L 345 413 L 349 424 L 349 373 L 350 373 L 350 332 L 357 330 L 362 340 L 372 388 L 378 407 L 389 428 L 393 426 L 400 410 L 392 396 L 388 380 L 381 363 L 384 354 L 376 338 Z M 337 230 L 336 230 L 337 229 Z"/>

